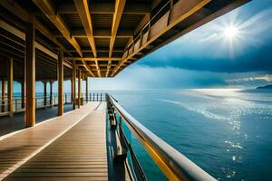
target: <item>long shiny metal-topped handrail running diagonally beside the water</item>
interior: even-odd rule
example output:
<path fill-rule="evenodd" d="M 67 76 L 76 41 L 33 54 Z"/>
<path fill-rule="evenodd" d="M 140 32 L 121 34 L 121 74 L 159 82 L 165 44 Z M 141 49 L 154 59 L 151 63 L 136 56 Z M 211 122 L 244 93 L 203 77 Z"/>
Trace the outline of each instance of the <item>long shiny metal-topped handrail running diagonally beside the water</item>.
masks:
<path fill-rule="evenodd" d="M 129 129 L 140 139 L 141 144 L 151 155 L 151 158 L 160 167 L 170 180 L 216 180 L 202 168 L 198 167 L 189 158 L 172 148 L 160 139 L 151 130 L 145 128 L 137 119 L 134 119 L 126 110 L 123 110 L 112 95 L 108 95 L 115 110 L 118 111 Z"/>

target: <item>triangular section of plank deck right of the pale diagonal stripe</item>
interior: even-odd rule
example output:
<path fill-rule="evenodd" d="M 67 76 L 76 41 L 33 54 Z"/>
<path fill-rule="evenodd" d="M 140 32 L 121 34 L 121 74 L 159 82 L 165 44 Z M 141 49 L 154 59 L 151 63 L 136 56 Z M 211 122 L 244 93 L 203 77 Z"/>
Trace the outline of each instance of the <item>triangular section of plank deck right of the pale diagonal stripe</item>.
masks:
<path fill-rule="evenodd" d="M 102 102 L 4 180 L 107 179 L 106 103 Z"/>

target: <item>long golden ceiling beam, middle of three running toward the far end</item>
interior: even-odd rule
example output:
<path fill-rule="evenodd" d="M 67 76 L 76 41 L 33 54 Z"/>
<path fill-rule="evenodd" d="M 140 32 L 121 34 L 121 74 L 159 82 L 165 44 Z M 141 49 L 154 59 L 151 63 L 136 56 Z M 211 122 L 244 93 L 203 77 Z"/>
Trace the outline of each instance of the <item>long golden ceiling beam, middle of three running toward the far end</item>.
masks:
<path fill-rule="evenodd" d="M 85 33 L 87 34 L 88 42 L 90 43 L 90 46 L 92 48 L 93 56 L 97 57 L 95 42 L 94 42 L 94 38 L 92 35 L 92 18 L 91 18 L 91 14 L 89 11 L 88 0 L 73 0 L 73 2 L 76 6 L 78 14 L 80 15 Z M 83 63 L 85 64 L 84 61 L 83 61 Z M 95 63 L 97 65 L 98 75 L 101 76 L 98 62 L 96 61 Z M 86 66 L 86 69 L 88 70 L 89 67 Z"/>

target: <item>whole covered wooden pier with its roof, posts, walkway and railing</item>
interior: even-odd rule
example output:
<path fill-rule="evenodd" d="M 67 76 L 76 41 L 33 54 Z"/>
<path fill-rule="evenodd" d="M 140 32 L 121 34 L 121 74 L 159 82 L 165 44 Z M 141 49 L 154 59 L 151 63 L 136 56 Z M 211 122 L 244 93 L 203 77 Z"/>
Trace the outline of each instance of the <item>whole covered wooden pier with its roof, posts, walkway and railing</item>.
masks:
<path fill-rule="evenodd" d="M 16 111 L 16 81 L 26 128 L 0 137 L 0 180 L 146 180 L 124 124 L 170 180 L 215 180 L 143 127 L 112 96 L 107 95 L 106 103 L 97 93 L 99 101 L 93 101 L 88 77 L 114 77 L 249 1 L 0 0 L 0 115 L 12 118 Z M 67 80 L 73 111 L 63 114 Z M 39 124 L 36 81 L 44 84 L 44 107 L 54 104 L 53 82 L 58 85 L 59 117 Z M 119 162 L 109 165 L 110 159 Z"/>

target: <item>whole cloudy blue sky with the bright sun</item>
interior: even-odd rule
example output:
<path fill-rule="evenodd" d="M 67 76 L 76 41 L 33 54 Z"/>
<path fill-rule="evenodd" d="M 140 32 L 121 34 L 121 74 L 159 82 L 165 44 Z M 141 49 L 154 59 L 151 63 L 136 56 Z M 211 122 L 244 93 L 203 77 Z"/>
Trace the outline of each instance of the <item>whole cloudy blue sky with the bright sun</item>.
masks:
<path fill-rule="evenodd" d="M 253 0 L 131 64 L 92 90 L 254 88 L 272 84 L 272 0 Z"/>

